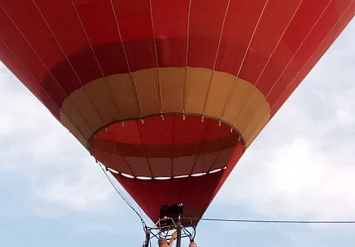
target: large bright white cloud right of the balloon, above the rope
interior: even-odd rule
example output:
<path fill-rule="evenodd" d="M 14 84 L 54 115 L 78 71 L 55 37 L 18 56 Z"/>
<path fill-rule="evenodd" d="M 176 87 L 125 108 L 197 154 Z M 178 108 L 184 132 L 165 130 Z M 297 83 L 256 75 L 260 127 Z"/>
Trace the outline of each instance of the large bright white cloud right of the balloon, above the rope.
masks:
<path fill-rule="evenodd" d="M 251 157 L 242 162 L 252 167 L 237 169 L 236 182 L 228 186 L 229 200 L 291 219 L 346 219 L 355 213 L 355 168 L 331 164 L 309 140 L 283 144 L 269 160 Z"/>

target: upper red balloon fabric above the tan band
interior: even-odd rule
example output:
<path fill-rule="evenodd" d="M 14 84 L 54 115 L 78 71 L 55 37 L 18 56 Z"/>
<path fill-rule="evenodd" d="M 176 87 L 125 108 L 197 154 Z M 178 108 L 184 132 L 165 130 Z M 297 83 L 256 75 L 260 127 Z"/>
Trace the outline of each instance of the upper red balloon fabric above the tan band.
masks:
<path fill-rule="evenodd" d="M 189 15 L 187 0 L 153 0 L 151 6 L 119 0 L 114 8 L 106 0 L 75 0 L 75 7 L 71 1 L 1 0 L 0 54 L 30 90 L 43 92 L 37 97 L 57 117 L 82 84 L 157 65 L 215 64 L 218 71 L 239 72 L 268 95 L 274 113 L 319 59 L 313 53 L 324 52 L 339 32 L 326 35 L 355 13 L 350 0 L 306 0 L 295 12 L 299 2 L 269 0 L 264 8 L 264 1 L 236 0 L 226 13 L 227 1 L 196 0 Z M 339 20 L 344 11 L 348 18 Z"/>

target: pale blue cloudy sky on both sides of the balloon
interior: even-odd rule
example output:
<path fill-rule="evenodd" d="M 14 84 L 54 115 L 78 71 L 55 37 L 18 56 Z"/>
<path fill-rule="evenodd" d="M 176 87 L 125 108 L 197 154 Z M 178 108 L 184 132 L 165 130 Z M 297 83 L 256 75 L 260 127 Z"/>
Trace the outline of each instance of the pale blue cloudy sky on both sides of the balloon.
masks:
<path fill-rule="evenodd" d="M 205 218 L 355 220 L 354 44 L 352 21 L 247 150 Z M 202 221 L 196 242 L 352 246 L 354 231 L 355 224 Z M 0 245 L 143 240 L 139 219 L 95 160 L 0 64 Z"/>

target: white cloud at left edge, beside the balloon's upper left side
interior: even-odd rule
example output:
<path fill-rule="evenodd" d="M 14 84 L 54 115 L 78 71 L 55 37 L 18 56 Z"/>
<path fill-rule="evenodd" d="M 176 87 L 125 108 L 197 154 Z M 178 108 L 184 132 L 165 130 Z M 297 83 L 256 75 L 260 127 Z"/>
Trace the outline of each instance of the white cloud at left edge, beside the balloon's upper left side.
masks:
<path fill-rule="evenodd" d="M 0 82 L 0 171 L 49 159 L 70 143 L 64 143 L 67 131 L 13 76 L 1 73 Z"/>

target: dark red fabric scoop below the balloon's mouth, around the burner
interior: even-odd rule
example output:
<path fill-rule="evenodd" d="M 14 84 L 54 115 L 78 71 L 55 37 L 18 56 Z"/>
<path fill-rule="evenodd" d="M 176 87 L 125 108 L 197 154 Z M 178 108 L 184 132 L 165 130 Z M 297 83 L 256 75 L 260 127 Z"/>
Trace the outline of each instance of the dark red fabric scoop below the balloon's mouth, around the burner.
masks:
<path fill-rule="evenodd" d="M 243 148 L 241 143 L 237 145 L 226 170 L 200 177 L 161 181 L 114 175 L 153 222 L 159 219 L 162 205 L 174 203 L 183 203 L 184 217 L 201 218 L 243 154 Z M 197 223 L 198 220 L 193 221 L 194 225 Z"/>

